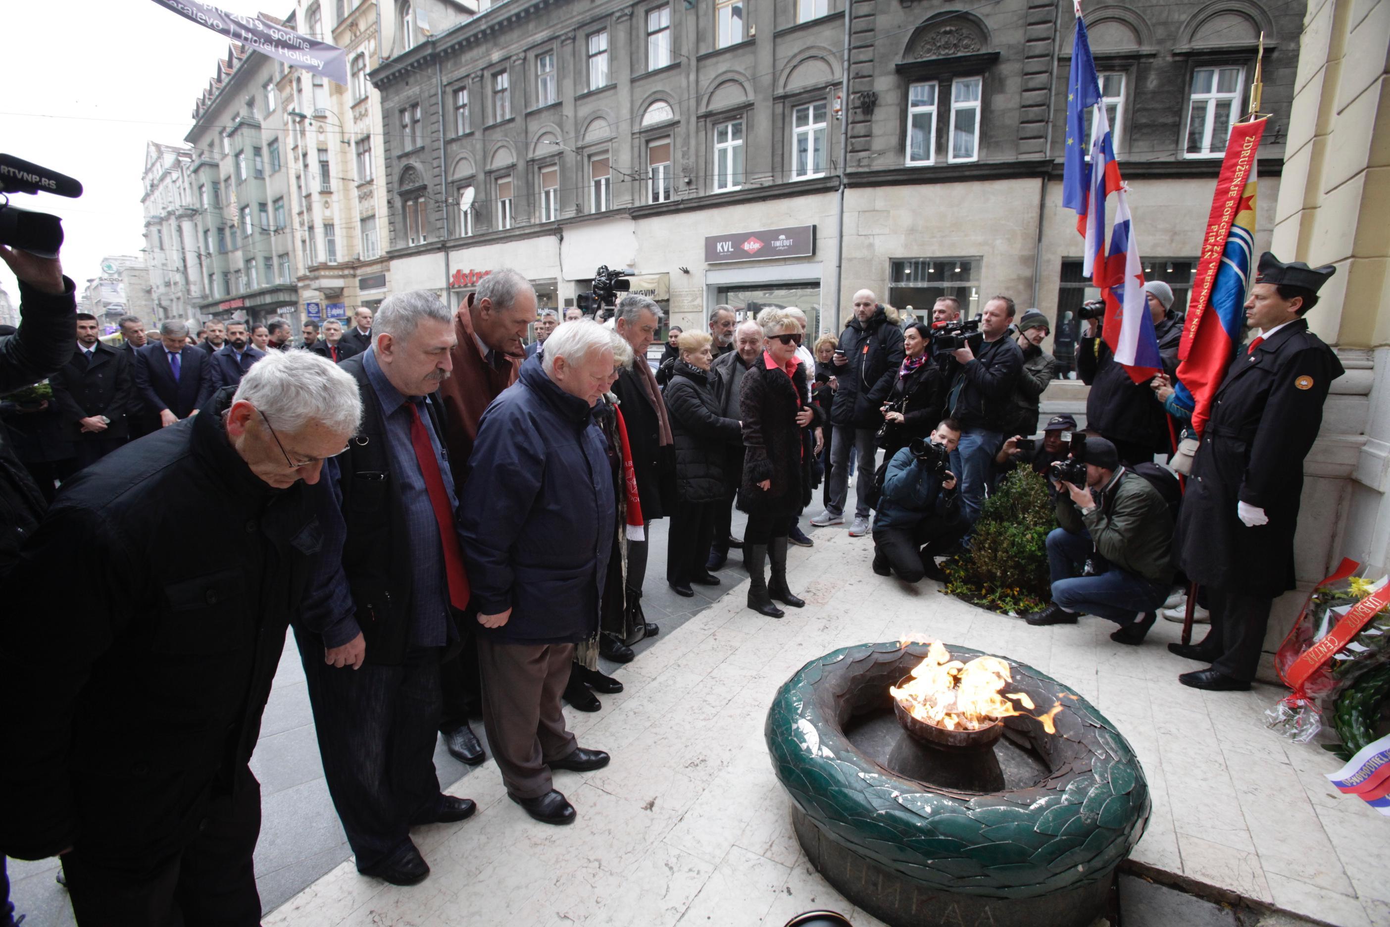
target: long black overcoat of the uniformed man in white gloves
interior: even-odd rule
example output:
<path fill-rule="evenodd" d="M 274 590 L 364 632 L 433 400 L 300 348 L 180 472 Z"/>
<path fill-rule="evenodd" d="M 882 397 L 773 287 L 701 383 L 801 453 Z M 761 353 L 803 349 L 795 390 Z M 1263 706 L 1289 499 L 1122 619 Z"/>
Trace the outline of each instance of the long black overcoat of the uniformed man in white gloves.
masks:
<path fill-rule="evenodd" d="M 1277 596 L 1294 588 L 1294 532 L 1304 457 L 1318 438 L 1322 404 L 1341 364 L 1295 320 L 1254 353 L 1236 349 L 1212 402 L 1177 520 L 1188 578 L 1227 592 Z M 1264 509 L 1247 528 L 1237 503 Z"/>

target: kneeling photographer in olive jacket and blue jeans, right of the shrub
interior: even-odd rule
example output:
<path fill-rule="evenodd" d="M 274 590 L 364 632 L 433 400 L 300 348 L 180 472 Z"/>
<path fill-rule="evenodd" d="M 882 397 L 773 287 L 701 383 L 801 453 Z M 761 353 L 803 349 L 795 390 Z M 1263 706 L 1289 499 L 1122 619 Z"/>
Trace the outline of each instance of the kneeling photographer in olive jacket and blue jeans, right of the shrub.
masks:
<path fill-rule="evenodd" d="M 1029 624 L 1076 624 L 1086 612 L 1116 621 L 1119 643 L 1140 643 L 1172 588 L 1173 518 L 1158 489 L 1120 466 L 1105 438 L 1077 434 L 1072 457 L 1054 464 L 1056 521 L 1047 536 L 1052 605 Z M 1073 575 L 1086 564 L 1083 575 Z"/>

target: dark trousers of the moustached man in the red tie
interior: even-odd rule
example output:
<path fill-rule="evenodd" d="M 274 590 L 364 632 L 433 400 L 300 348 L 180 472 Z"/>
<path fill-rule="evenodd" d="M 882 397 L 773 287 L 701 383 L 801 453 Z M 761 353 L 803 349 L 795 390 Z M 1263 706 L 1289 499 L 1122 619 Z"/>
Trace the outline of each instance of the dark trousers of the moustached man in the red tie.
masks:
<path fill-rule="evenodd" d="M 439 648 L 410 648 L 400 666 L 324 663 L 317 634 L 295 628 L 314 709 L 318 753 L 338 819 L 371 867 L 410 842 L 443 798 L 434 767 L 439 719 Z"/>

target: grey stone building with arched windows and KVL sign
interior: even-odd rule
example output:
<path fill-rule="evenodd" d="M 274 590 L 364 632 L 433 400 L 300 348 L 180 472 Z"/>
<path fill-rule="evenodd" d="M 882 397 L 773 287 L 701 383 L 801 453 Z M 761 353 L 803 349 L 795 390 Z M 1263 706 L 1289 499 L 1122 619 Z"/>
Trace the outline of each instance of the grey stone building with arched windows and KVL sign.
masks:
<path fill-rule="evenodd" d="M 827 331 L 862 286 L 919 314 L 1004 292 L 1056 318 L 1068 353 L 1087 295 L 1061 208 L 1070 6 L 851 1 L 848 24 L 838 0 L 513 1 L 391 49 L 371 79 L 393 289 L 457 304 L 512 265 L 564 304 L 607 264 L 682 325 L 774 303 Z M 1261 33 L 1272 225 L 1298 13 L 1145 1 L 1088 6 L 1087 24 L 1141 253 L 1186 297 Z"/>

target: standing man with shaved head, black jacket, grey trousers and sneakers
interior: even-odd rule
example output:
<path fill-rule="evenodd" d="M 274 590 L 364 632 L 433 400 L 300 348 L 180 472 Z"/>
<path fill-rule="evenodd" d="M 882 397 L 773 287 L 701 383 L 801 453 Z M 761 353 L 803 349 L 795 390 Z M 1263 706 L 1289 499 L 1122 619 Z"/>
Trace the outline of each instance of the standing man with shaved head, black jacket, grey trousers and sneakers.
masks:
<path fill-rule="evenodd" d="M 873 290 L 855 293 L 855 317 L 845 325 L 833 361 L 840 388 L 830 406 L 830 423 L 835 428 L 830 443 L 830 504 L 810 520 L 819 528 L 845 521 L 849 453 L 853 452 L 859 486 L 849 534 L 855 538 L 869 534 L 869 492 L 878 453 L 873 439 L 883 424 L 880 409 L 892 391 L 905 354 L 899 322 L 898 310 L 880 306 Z"/>

